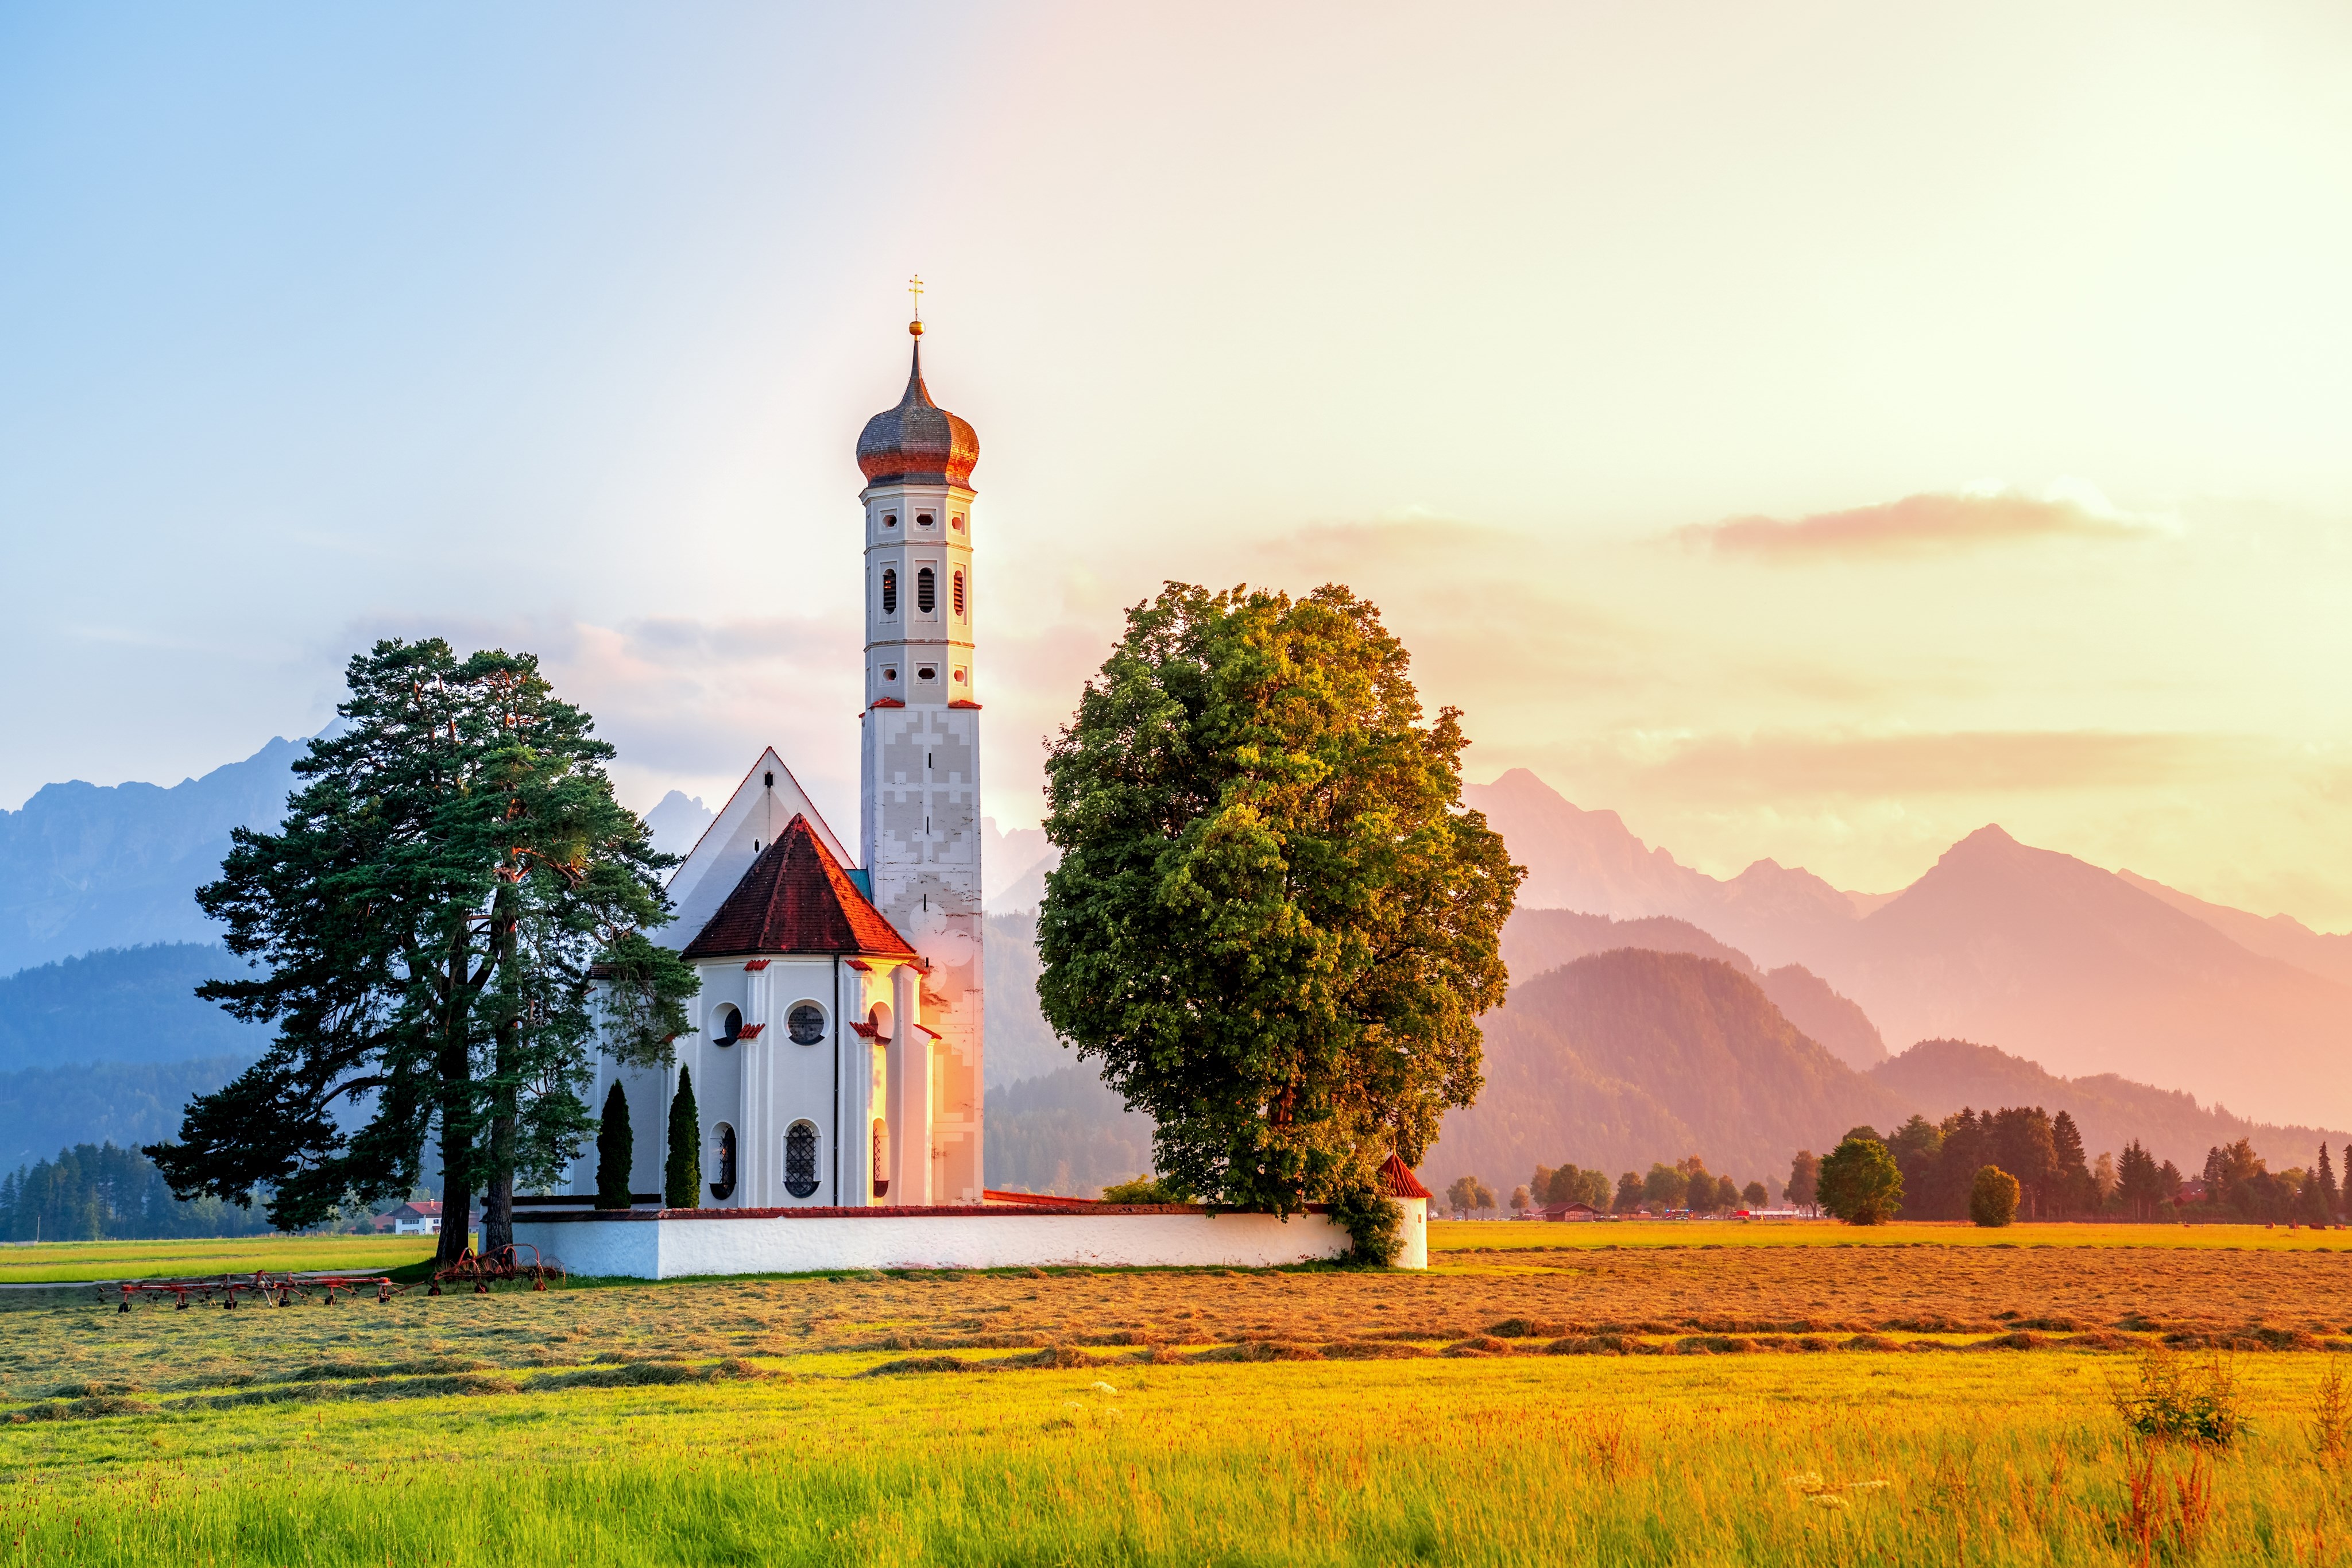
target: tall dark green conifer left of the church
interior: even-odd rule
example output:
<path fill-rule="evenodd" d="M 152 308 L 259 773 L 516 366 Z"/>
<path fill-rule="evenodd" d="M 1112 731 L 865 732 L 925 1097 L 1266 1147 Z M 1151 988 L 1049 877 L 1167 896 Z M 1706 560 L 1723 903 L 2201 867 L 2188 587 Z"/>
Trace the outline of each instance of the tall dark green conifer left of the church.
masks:
<path fill-rule="evenodd" d="M 670 914 L 673 860 L 529 654 L 393 639 L 346 679 L 341 722 L 294 764 L 306 783 L 285 823 L 240 827 L 198 891 L 261 971 L 198 994 L 278 1039 L 148 1154 L 181 1197 L 266 1190 L 270 1220 L 296 1229 L 407 1197 L 430 1135 L 447 1262 L 475 1192 L 482 1244 L 501 1246 L 517 1178 L 548 1180 L 579 1150 L 590 971 L 612 992 L 604 1044 L 628 1063 L 666 1060 L 694 976 L 644 938 Z"/>

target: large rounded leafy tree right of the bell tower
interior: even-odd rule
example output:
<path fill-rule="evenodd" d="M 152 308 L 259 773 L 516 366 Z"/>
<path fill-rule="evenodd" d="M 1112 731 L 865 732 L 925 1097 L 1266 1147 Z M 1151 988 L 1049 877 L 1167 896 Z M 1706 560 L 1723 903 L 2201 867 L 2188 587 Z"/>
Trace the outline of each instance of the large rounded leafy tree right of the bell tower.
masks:
<path fill-rule="evenodd" d="M 1047 752 L 1037 999 L 1214 1204 L 1376 1199 L 1482 1086 L 1524 872 L 1406 663 L 1345 588 L 1169 583 Z"/>

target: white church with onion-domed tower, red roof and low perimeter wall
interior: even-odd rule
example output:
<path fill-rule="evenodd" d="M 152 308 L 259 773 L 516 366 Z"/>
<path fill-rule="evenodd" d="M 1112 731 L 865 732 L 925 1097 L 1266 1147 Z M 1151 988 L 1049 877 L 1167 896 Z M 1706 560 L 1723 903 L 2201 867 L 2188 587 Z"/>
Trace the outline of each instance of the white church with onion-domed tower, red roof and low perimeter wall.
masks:
<path fill-rule="evenodd" d="M 856 461 L 866 529 L 866 712 L 856 851 L 783 757 L 743 773 L 670 877 L 675 943 L 701 978 L 670 1067 L 597 1065 L 628 1100 L 637 1206 L 593 1211 L 595 1152 L 557 1197 L 517 1199 L 515 1239 L 574 1274 L 677 1276 L 1035 1262 L 1275 1265 L 1348 1237 L 1197 1206 L 990 1192 L 983 1178 L 981 703 L 971 470 L 978 435 L 922 378 Z M 847 588 L 847 583 L 844 583 Z M 703 1187 L 661 1208 L 677 1072 L 694 1074 Z M 1402 1161 L 1406 1267 L 1425 1199 Z"/>

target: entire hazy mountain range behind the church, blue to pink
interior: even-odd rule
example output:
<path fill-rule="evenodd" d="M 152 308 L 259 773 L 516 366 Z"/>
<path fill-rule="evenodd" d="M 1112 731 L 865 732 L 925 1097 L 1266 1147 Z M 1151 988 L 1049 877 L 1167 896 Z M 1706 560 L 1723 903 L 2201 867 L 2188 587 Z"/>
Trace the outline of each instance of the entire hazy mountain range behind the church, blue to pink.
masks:
<path fill-rule="evenodd" d="M 226 961 L 193 889 L 214 875 L 233 827 L 278 818 L 299 752 L 299 741 L 270 741 L 172 788 L 47 785 L 24 809 L 0 813 L 0 976 L 24 971 L 0 978 L 0 1072 L 205 1058 L 191 1067 L 202 1077 L 249 1060 L 261 1032 L 186 994 L 198 971 Z M 1489 1095 L 1477 1117 L 1496 1126 L 1534 1126 L 1529 1107 L 1541 1095 L 1515 1077 L 1522 1058 L 1571 1060 L 1573 1103 L 1555 1110 L 1590 1110 L 1599 1117 L 1595 1138 L 1618 1138 L 1606 1128 L 1693 1135 L 1715 1159 L 1748 1147 L 1740 1138 L 1757 1157 L 1785 1143 L 1795 1124 L 1780 1126 L 1780 1112 L 1769 1110 L 1780 1100 L 1776 1084 L 1820 1093 L 1816 1140 L 1835 1138 L 1846 1126 L 1839 1117 L 1870 1105 L 1940 1114 L 1999 1100 L 2065 1105 L 2086 1135 L 2114 1128 L 2117 1147 L 2138 1135 L 2185 1164 L 2237 1135 L 2256 1135 L 2258 1147 L 2272 1140 L 2274 1159 L 2300 1164 L 2312 1128 L 2277 1124 L 2352 1124 L 2352 1074 L 2343 1070 L 2352 1063 L 2352 936 L 2213 905 L 2129 870 L 2030 849 L 1999 827 L 1969 835 L 1907 889 L 1849 893 L 1771 860 L 1731 879 L 1708 877 L 1642 844 L 1616 813 L 1583 811 L 1524 769 L 1465 795 L 1529 867 L 1505 929 L 1519 987 L 1489 1018 Z M 682 792 L 649 813 L 656 842 L 673 853 L 691 849 L 708 818 L 703 802 Z M 1035 1006 L 1028 912 L 1051 865 L 1040 830 L 985 823 L 985 893 L 997 910 L 990 1091 L 1070 1070 Z M 75 959 L 134 943 L 158 947 Z M 1616 1018 L 1611 1009 L 1632 1006 L 1625 985 L 1611 990 L 1597 971 L 1555 976 L 1623 950 L 1715 961 L 1729 980 L 1656 971 L 1677 1001 L 1653 999 L 1644 1004 L 1651 1023 L 1618 1020 L 1606 1025 L 1618 1034 L 1595 1034 L 1597 1020 Z M 1689 1030 L 1675 1046 L 1686 1053 L 1684 1070 L 1644 1084 L 1628 1077 L 1621 1046 L 1646 1041 L 1639 1048 L 1658 1056 L 1661 1020 Z M 1889 1039 L 1924 1044 L 1889 1058 Z M 1759 1053 L 1762 1079 L 1748 1070 L 1724 1077 L 1710 1051 Z M 1719 1124 L 1715 1079 L 1743 1086 L 1740 1103 L 1755 1084 L 1769 1088 L 1757 1100 L 1766 1110 L 1743 1112 L 1762 1117 L 1752 1131 Z M 42 1098 L 80 1103 L 64 1084 L 52 1088 Z M 35 1084 L 9 1079 L 7 1091 L 24 1098 Z M 176 1079 L 158 1081 L 165 1091 L 176 1093 Z M 2270 1121 L 2246 1121 L 2213 1105 L 2216 1095 Z M 1056 1091 L 1051 1107 L 1023 1105 L 1018 1114 L 1058 1124 L 1089 1105 L 1089 1095 Z M 1477 1143 L 1522 1143 L 1472 1135 L 1477 1117 L 1463 1117 L 1446 1124 L 1446 1157 Z M 1538 1159 L 1576 1159 L 1545 1145 L 1581 1135 L 1573 1126 L 1529 1131 L 1526 1147 Z M 1134 1133 L 1117 1143 L 1134 1147 Z M 2098 1135 L 2093 1147 L 2103 1147 Z M 1585 1159 L 1597 1157 L 1599 1147 L 1585 1150 Z"/>

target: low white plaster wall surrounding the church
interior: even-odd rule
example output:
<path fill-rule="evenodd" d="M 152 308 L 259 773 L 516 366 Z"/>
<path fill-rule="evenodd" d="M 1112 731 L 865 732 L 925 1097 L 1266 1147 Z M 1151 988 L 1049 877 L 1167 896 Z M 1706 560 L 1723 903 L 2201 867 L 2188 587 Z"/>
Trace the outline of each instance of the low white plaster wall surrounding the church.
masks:
<path fill-rule="evenodd" d="M 1411 1208 L 1411 1206 L 1409 1206 Z M 1428 1227 L 1421 1265 L 1428 1267 Z M 1263 1213 L 990 1213 L 811 1215 L 774 1220 L 520 1220 L 529 1241 L 574 1274 L 677 1279 L 682 1274 L 811 1274 L 823 1269 L 1021 1265 L 1272 1267 L 1348 1253 L 1329 1215 Z"/>

